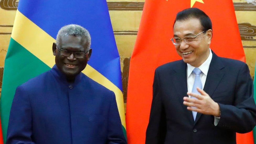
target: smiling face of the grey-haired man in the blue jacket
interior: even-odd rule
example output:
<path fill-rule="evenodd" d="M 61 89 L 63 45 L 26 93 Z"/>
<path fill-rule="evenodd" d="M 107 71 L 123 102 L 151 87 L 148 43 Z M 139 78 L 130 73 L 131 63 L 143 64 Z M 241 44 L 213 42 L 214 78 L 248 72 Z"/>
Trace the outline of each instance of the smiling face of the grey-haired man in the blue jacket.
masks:
<path fill-rule="evenodd" d="M 61 36 L 58 49 L 68 50 L 71 52 L 87 52 L 88 42 L 83 36 L 64 35 Z M 90 58 L 92 51 L 89 51 L 88 55 L 84 55 L 83 58 L 75 58 L 73 53 L 70 56 L 65 57 L 60 55 L 60 51 L 56 48 L 56 44 L 53 44 L 53 54 L 55 55 L 55 63 L 58 69 L 64 73 L 68 80 L 73 80 L 77 74 L 79 74 L 87 65 L 87 61 Z"/>

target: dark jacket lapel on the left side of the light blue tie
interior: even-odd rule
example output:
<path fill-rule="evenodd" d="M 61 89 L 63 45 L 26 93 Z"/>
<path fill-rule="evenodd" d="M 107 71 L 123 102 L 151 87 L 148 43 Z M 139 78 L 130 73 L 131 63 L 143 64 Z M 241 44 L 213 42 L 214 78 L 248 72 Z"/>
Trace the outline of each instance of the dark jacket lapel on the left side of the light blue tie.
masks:
<path fill-rule="evenodd" d="M 187 87 L 187 64 L 183 62 L 183 60 L 180 61 L 181 64 L 174 68 L 174 82 L 175 88 L 178 92 L 178 97 L 180 100 L 180 104 L 182 105 L 182 108 L 188 116 L 188 120 L 191 124 L 194 123 L 192 112 L 187 109 L 187 106 L 183 104 L 183 97 L 187 96 L 188 87 Z"/>

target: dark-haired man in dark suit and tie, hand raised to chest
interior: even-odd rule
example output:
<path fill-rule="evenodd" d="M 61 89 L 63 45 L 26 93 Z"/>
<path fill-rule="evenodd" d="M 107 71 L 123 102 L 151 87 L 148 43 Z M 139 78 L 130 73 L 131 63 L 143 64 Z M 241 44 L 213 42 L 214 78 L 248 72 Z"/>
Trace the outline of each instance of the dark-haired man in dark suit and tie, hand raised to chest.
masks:
<path fill-rule="evenodd" d="M 198 8 L 179 12 L 173 31 L 183 60 L 155 71 L 146 144 L 236 143 L 256 124 L 248 66 L 211 51 L 211 20 Z"/>

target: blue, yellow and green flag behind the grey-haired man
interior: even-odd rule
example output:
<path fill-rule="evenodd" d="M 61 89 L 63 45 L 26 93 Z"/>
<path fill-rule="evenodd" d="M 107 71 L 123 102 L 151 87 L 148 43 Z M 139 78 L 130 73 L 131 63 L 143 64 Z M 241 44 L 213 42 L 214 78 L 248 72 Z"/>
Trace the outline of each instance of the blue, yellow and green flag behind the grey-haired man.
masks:
<path fill-rule="evenodd" d="M 82 72 L 115 93 L 126 136 L 120 58 L 106 1 L 20 0 L 4 64 L 1 96 L 4 142 L 16 87 L 54 66 L 52 43 L 58 30 L 68 24 L 78 24 L 89 31 L 93 54 Z"/>

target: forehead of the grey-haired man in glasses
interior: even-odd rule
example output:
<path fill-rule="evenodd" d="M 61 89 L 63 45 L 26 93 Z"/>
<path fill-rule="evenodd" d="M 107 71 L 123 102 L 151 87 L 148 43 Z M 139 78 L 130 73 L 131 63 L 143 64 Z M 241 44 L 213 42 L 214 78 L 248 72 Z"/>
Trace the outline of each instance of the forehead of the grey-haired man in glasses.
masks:
<path fill-rule="evenodd" d="M 60 39 L 60 45 L 62 47 L 87 48 L 88 42 L 85 36 L 63 35 Z"/>

